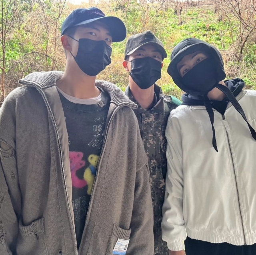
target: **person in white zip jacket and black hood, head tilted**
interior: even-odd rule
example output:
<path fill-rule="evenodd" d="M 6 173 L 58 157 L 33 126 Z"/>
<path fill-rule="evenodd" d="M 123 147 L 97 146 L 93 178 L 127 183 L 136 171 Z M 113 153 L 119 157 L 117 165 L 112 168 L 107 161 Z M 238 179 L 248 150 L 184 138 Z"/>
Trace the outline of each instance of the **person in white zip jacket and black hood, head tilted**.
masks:
<path fill-rule="evenodd" d="M 256 254 L 256 92 L 224 80 L 220 52 L 196 38 L 174 48 L 168 74 L 186 92 L 166 127 L 170 255 L 184 243 L 186 255 Z"/>

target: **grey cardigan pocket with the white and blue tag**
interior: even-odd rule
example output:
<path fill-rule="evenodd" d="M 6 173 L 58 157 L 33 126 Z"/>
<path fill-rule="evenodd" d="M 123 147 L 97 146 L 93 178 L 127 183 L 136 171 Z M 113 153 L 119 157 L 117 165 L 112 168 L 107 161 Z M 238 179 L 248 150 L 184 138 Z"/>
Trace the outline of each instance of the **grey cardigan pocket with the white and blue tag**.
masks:
<path fill-rule="evenodd" d="M 118 227 L 116 224 L 114 224 L 112 234 L 108 241 L 108 248 L 107 248 L 106 255 L 119 254 L 119 253 L 114 253 L 114 247 L 115 247 L 118 239 L 129 240 L 131 231 L 132 230 L 130 228 L 128 230 L 126 230 L 126 229 L 122 229 L 122 228 Z M 126 247 L 126 249 L 128 247 Z M 125 253 L 120 253 L 120 254 L 125 254 Z"/>

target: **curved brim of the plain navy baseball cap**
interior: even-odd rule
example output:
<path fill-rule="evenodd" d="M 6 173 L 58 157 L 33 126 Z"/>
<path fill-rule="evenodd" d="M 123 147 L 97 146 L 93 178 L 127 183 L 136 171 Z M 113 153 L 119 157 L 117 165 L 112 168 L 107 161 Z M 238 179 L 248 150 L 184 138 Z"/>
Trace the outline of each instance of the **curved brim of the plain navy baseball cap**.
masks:
<path fill-rule="evenodd" d="M 126 38 L 126 27 L 124 25 L 124 22 L 122 22 L 120 18 L 113 16 L 104 16 L 100 18 L 94 18 L 91 20 L 84 20 L 83 22 L 80 22 L 75 26 L 89 24 L 96 20 L 99 20 L 100 22 L 108 26 L 109 32 L 112 36 L 112 42 L 122 42 Z"/>

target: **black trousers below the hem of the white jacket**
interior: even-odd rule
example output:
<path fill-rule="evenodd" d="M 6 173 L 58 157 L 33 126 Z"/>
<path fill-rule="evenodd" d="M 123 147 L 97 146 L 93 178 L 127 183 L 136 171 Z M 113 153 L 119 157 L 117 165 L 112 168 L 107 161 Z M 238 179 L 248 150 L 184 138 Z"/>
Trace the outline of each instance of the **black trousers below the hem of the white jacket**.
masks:
<path fill-rule="evenodd" d="M 256 243 L 253 245 L 232 245 L 230 243 L 209 243 L 187 237 L 186 255 L 256 255 Z"/>

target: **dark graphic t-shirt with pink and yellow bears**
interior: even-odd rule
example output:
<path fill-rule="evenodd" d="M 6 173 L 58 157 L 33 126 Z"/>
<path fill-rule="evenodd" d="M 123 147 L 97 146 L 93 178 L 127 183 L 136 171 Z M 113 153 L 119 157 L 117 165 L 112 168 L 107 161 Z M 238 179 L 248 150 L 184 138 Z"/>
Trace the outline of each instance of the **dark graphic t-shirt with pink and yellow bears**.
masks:
<path fill-rule="evenodd" d="M 102 149 L 110 97 L 102 91 L 97 104 L 86 105 L 70 102 L 59 94 L 68 131 L 72 206 L 79 247 Z"/>

